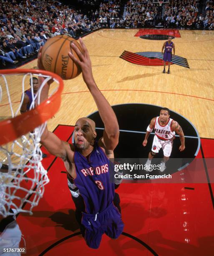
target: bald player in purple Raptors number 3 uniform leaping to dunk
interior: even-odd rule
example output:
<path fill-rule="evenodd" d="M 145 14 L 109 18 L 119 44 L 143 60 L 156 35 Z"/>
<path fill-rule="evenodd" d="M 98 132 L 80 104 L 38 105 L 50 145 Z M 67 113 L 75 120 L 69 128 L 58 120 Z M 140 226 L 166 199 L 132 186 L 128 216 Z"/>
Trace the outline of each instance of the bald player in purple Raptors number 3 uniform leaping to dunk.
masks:
<path fill-rule="evenodd" d="M 64 161 L 68 177 L 78 187 L 85 203 L 81 216 L 84 230 L 82 228 L 81 233 L 89 247 L 98 248 L 103 233 L 111 238 L 118 238 L 124 226 L 118 208 L 113 205 L 114 184 L 110 180 L 109 171 L 109 158 L 114 157 L 113 150 L 118 144 L 119 126 L 113 109 L 93 79 L 91 60 L 81 38 L 80 43 L 83 53 L 71 44 L 80 61 L 73 54 L 68 55 L 82 69 L 83 80 L 96 102 L 105 126 L 103 137 L 97 142 L 94 121 L 89 118 L 79 118 L 74 130 L 75 145 L 61 141 L 48 131 L 48 128 L 41 136 L 41 143 L 51 154 Z M 38 67 L 43 69 L 40 52 Z M 49 84 L 46 84 L 41 93 L 41 102 L 47 99 L 48 90 Z"/>

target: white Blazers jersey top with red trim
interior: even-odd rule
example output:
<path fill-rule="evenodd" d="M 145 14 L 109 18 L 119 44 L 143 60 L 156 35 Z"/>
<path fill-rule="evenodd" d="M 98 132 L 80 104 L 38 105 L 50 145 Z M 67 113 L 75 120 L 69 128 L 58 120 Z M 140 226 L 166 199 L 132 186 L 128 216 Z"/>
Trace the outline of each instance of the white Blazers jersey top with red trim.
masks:
<path fill-rule="evenodd" d="M 159 123 L 159 118 L 160 117 L 158 116 L 156 117 L 155 120 L 155 135 L 161 140 L 170 140 L 175 136 L 175 132 L 171 130 L 171 123 L 173 119 L 169 118 L 168 123 L 166 123 L 166 125 L 163 126 Z"/>

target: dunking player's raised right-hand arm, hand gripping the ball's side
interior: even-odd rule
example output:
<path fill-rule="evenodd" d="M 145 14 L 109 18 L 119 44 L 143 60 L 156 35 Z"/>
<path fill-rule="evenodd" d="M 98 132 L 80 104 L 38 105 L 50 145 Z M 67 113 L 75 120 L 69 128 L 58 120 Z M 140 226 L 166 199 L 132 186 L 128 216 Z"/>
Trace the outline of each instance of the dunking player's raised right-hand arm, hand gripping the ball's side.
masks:
<path fill-rule="evenodd" d="M 83 53 L 78 49 L 77 46 L 71 44 L 71 48 L 76 51 L 80 60 L 76 59 L 72 53 L 69 53 L 73 61 L 79 65 L 82 69 L 83 80 L 85 81 L 94 101 L 96 102 L 99 114 L 104 123 L 105 129 L 103 132 L 103 143 L 107 150 L 114 150 L 118 144 L 119 138 L 119 125 L 111 105 L 108 103 L 106 98 L 103 96 L 101 91 L 98 89 L 92 74 L 91 60 L 86 49 L 85 44 L 83 44 L 80 38 L 80 44 L 83 49 Z"/>

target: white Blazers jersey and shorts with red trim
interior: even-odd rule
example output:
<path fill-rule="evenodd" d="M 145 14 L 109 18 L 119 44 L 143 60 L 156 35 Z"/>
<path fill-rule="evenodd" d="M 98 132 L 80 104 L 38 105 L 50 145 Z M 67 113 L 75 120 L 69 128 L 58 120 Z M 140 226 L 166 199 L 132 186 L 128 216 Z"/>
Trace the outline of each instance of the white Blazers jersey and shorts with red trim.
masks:
<path fill-rule="evenodd" d="M 168 123 L 166 123 L 166 125 L 161 125 L 159 123 L 159 119 L 160 117 L 158 116 L 155 120 L 155 136 L 152 143 L 151 151 L 154 153 L 158 153 L 159 150 L 162 148 L 164 151 L 164 156 L 170 156 L 175 136 L 175 132 L 171 129 L 173 119 L 169 118 L 169 121 Z"/>

